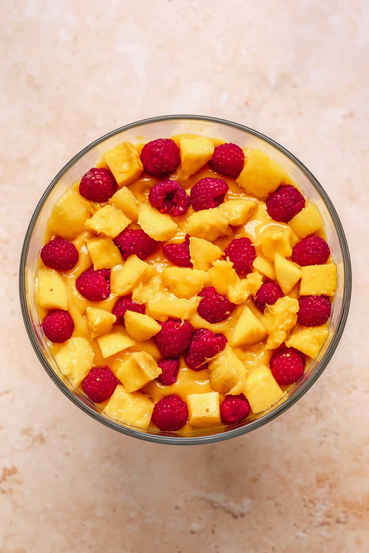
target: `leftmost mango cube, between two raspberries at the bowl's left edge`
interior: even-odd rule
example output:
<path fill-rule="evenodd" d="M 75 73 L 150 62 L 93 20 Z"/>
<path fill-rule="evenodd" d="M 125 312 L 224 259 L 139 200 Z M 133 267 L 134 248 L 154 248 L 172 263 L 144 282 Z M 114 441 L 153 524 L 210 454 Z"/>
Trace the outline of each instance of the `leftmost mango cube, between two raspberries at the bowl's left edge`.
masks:
<path fill-rule="evenodd" d="M 63 278 L 54 269 L 40 269 L 36 281 L 38 302 L 44 309 L 68 308 L 68 296 Z"/>

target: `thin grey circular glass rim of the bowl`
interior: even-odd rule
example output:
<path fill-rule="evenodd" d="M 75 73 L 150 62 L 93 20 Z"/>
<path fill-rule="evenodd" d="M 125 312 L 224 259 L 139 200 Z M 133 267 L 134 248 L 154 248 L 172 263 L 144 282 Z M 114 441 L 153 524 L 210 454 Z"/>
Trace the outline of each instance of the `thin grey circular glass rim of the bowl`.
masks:
<path fill-rule="evenodd" d="M 300 388 L 287 400 L 285 400 L 282 404 L 278 405 L 275 409 L 267 413 L 266 415 L 263 415 L 261 418 L 251 421 L 248 424 L 237 427 L 235 429 L 225 430 L 224 432 L 220 432 L 219 434 L 208 434 L 205 436 L 178 436 L 173 434 L 150 434 L 149 432 L 141 431 L 141 430 L 134 430 L 131 428 L 128 428 L 126 426 L 123 426 L 119 424 L 118 422 L 115 422 L 112 419 L 108 419 L 105 416 L 101 415 L 100 413 L 97 413 L 97 411 L 93 410 L 89 405 L 84 403 L 77 395 L 75 395 L 61 380 L 56 373 L 53 371 L 53 369 L 50 367 L 46 357 L 43 354 L 43 351 L 39 347 L 37 338 L 35 336 L 34 328 L 32 325 L 32 321 L 29 316 L 28 312 L 28 306 L 27 306 L 27 298 L 26 298 L 26 286 L 25 286 L 25 270 L 26 270 L 26 260 L 28 255 L 28 249 L 30 244 L 30 239 L 32 237 L 32 232 L 35 226 L 35 223 L 37 221 L 37 218 L 39 216 L 39 213 L 49 196 L 51 190 L 54 189 L 54 186 L 58 184 L 61 177 L 66 173 L 67 170 L 71 168 L 72 165 L 76 163 L 79 159 L 82 158 L 87 152 L 89 152 L 92 148 L 95 148 L 98 144 L 105 141 L 108 138 L 111 138 L 115 136 L 116 134 L 119 134 L 123 131 L 127 131 L 128 129 L 133 129 L 135 127 L 140 127 L 145 124 L 152 124 L 152 123 L 158 123 L 158 122 L 167 122 L 167 121 L 183 121 L 183 120 L 192 120 L 192 121 L 203 121 L 203 122 L 211 122 L 211 123 L 217 123 L 221 124 L 227 127 L 236 128 L 239 131 L 247 132 L 248 134 L 253 135 L 256 138 L 259 138 L 261 140 L 264 140 L 264 142 L 268 143 L 272 147 L 279 150 L 280 153 L 287 156 L 287 158 L 292 161 L 295 165 L 298 166 L 298 168 L 304 173 L 306 178 L 311 182 L 311 185 L 315 188 L 316 191 L 318 191 L 321 198 L 324 200 L 326 207 L 328 208 L 328 211 L 330 213 L 330 216 L 334 222 L 335 229 L 337 232 L 337 236 L 339 238 L 341 253 L 342 253 L 342 259 L 343 259 L 343 265 L 344 265 L 344 291 L 342 296 L 342 306 L 341 311 L 339 315 L 339 319 L 337 321 L 337 327 L 334 332 L 334 335 L 332 337 L 332 340 L 326 349 L 326 352 L 324 353 L 324 356 L 321 358 L 320 363 L 316 367 L 314 373 L 310 375 L 309 378 L 303 382 L 302 385 L 300 385 Z M 333 206 L 329 196 L 326 194 L 325 190 L 323 189 L 323 186 L 319 183 L 319 181 L 315 178 L 315 176 L 309 171 L 308 168 L 305 167 L 305 165 L 297 159 L 292 153 L 289 152 L 289 150 L 285 149 L 282 145 L 278 144 L 273 140 L 272 138 L 267 137 L 265 134 L 262 134 L 258 131 L 255 131 L 254 129 L 250 127 L 246 127 L 245 125 L 242 125 L 240 123 L 235 123 L 232 121 L 227 121 L 226 119 L 220 119 L 217 117 L 209 117 L 209 116 L 201 116 L 201 115 L 169 115 L 169 116 L 158 116 L 158 117 L 150 117 L 147 119 L 142 119 L 141 121 L 135 121 L 133 123 L 129 123 L 127 125 L 124 125 L 122 127 L 119 127 L 115 129 L 114 131 L 108 132 L 104 134 L 102 137 L 97 138 L 93 142 L 91 142 L 89 145 L 87 145 L 85 148 L 83 148 L 79 153 L 77 153 L 74 157 L 68 161 L 63 169 L 59 171 L 58 174 L 54 177 L 54 179 L 50 182 L 49 186 L 46 188 L 44 194 L 41 196 L 37 207 L 35 208 L 35 211 L 32 215 L 32 218 L 29 222 L 27 232 L 25 234 L 24 243 L 22 247 L 22 253 L 20 255 L 20 264 L 19 264 L 19 298 L 20 298 L 20 307 L 22 310 L 22 316 L 25 328 L 27 330 L 27 334 L 29 337 L 29 340 L 33 346 L 33 349 L 35 353 L 37 354 L 37 357 L 39 361 L 41 362 L 42 366 L 44 367 L 46 373 L 49 375 L 51 380 L 58 386 L 58 388 L 61 390 L 61 392 L 64 393 L 64 395 L 69 398 L 72 403 L 74 403 L 77 407 L 79 407 L 84 413 L 87 415 L 90 415 L 93 419 L 97 420 L 98 422 L 101 422 L 101 424 L 116 430 L 118 432 L 121 432 L 122 434 L 125 434 L 127 436 L 136 437 L 139 440 L 145 440 L 149 442 L 153 442 L 156 444 L 169 444 L 169 445 L 200 445 L 200 444 L 212 444 L 218 441 L 224 441 L 224 440 L 230 440 L 233 437 L 242 436 L 243 434 L 247 434 L 248 432 L 251 432 L 252 430 L 256 430 L 257 428 L 263 426 L 264 424 L 267 424 L 268 422 L 276 419 L 279 415 L 282 415 L 284 411 L 287 411 L 292 405 L 294 405 L 300 398 L 303 397 L 303 395 L 308 392 L 308 390 L 311 388 L 311 386 L 318 380 L 320 375 L 323 373 L 324 369 L 328 365 L 332 355 L 335 352 L 335 349 L 340 341 L 340 338 L 342 336 L 342 333 L 344 332 L 344 328 L 347 321 L 347 316 L 349 314 L 349 307 L 350 307 L 350 299 L 351 299 L 351 284 L 352 284 L 352 272 L 351 272 L 351 261 L 350 261 L 350 253 L 349 248 L 347 246 L 347 241 L 344 233 L 344 229 L 342 228 L 341 221 L 339 219 L 339 216 L 337 215 L 337 212 L 335 210 L 335 207 Z"/>

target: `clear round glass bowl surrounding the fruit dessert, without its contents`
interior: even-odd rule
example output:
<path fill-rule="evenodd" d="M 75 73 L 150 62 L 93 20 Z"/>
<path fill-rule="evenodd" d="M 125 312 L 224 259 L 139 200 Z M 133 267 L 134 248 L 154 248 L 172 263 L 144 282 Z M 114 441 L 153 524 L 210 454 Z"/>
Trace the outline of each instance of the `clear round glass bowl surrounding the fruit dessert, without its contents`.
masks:
<path fill-rule="evenodd" d="M 304 377 L 288 390 L 287 398 L 283 398 L 269 410 L 253 415 L 252 418 L 248 418 L 234 427 L 199 430 L 181 436 L 159 431 L 142 431 L 134 427 L 123 426 L 118 421 L 103 415 L 89 399 L 79 390 L 73 388 L 69 380 L 60 373 L 46 345 L 45 337 L 40 329 L 34 297 L 35 276 L 41 247 L 43 246 L 46 221 L 48 221 L 51 209 L 60 196 L 70 188 L 74 181 L 80 179 L 87 170 L 95 166 L 106 150 L 113 148 L 124 140 L 148 142 L 154 138 L 169 137 L 179 133 L 217 137 L 241 146 L 260 148 L 269 157 L 277 161 L 292 176 L 304 196 L 318 204 L 338 273 L 337 291 L 332 303 L 332 313 L 329 320 L 330 335 L 318 358 L 310 363 Z M 82 411 L 102 424 L 122 432 L 122 434 L 141 440 L 174 445 L 206 444 L 246 434 L 246 432 L 251 432 L 251 430 L 255 430 L 275 419 L 300 399 L 319 378 L 329 363 L 346 324 L 351 296 L 351 264 L 345 234 L 332 202 L 310 171 L 285 148 L 263 134 L 253 131 L 253 129 L 223 119 L 193 115 L 153 117 L 131 123 L 98 138 L 75 155 L 51 181 L 35 209 L 25 235 L 20 259 L 19 294 L 24 324 L 39 361 L 61 392 Z"/>

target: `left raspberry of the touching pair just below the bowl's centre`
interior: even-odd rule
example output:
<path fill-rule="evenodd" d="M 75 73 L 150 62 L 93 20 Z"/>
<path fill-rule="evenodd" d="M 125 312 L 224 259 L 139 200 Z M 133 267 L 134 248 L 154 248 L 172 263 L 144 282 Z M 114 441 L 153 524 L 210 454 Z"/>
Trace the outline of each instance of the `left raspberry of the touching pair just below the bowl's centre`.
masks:
<path fill-rule="evenodd" d="M 180 357 L 190 343 L 192 325 L 182 321 L 159 322 L 159 325 L 162 325 L 162 330 L 155 334 L 155 343 L 162 357 Z"/>

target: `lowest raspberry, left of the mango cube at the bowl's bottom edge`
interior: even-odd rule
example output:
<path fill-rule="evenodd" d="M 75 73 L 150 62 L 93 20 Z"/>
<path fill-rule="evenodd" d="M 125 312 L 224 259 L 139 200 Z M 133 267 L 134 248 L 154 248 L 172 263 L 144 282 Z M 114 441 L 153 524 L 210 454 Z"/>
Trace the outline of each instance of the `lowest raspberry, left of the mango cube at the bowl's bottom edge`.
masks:
<path fill-rule="evenodd" d="M 178 395 L 159 399 L 153 410 L 153 421 L 163 432 L 179 430 L 188 419 L 187 405 Z"/>

